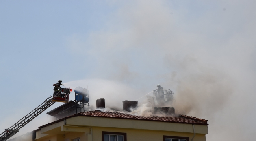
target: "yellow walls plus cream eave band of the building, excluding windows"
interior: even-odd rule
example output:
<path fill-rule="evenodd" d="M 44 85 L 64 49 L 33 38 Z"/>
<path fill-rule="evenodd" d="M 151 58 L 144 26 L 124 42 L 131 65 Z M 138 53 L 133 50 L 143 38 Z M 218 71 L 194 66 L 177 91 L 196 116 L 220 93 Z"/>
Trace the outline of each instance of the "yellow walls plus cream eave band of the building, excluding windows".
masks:
<path fill-rule="evenodd" d="M 72 141 L 78 137 L 80 141 L 102 141 L 102 131 L 126 133 L 127 141 L 163 141 L 164 135 L 191 140 L 194 135 L 192 124 L 78 116 L 41 128 L 41 133 L 49 135 L 37 141 Z M 195 125 L 195 132 L 193 141 L 206 141 L 207 125 Z"/>

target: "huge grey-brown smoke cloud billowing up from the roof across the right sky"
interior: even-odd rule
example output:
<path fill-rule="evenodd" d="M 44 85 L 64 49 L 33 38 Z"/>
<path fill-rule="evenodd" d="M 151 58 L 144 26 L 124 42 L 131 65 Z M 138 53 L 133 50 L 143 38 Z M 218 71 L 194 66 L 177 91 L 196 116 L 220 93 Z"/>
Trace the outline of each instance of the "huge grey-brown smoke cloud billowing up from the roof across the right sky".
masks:
<path fill-rule="evenodd" d="M 256 139 L 255 1 L 119 4 L 102 30 L 67 45 L 94 58 L 91 78 L 109 81 L 97 86 L 107 107 L 161 84 L 174 91 L 176 112 L 209 120 L 207 140 Z"/>

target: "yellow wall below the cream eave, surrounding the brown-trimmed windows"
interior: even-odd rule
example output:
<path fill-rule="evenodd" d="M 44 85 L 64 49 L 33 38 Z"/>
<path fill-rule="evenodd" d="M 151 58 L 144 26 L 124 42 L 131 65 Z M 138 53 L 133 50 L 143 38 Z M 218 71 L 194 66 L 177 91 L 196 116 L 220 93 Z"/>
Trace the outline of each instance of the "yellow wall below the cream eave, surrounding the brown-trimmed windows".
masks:
<path fill-rule="evenodd" d="M 154 131 L 154 130 L 135 130 L 125 128 L 108 128 L 108 127 L 93 127 L 93 141 L 102 141 L 102 131 L 106 132 L 122 132 L 127 134 L 127 141 L 163 141 L 163 136 L 180 136 L 189 137 L 192 139 L 193 133 L 183 132 L 168 132 L 168 131 Z M 37 141 L 72 141 L 80 137 L 80 141 L 88 141 L 86 132 L 69 132 L 63 134 L 55 134 L 44 139 L 37 139 Z M 205 134 L 196 134 L 194 141 L 206 141 Z"/>

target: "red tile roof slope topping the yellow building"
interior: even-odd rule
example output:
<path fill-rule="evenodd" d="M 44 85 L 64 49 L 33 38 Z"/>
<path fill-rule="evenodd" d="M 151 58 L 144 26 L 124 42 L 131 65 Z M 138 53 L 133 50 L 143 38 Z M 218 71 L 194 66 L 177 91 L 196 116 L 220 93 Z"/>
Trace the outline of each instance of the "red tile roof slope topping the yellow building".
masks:
<path fill-rule="evenodd" d="M 174 122 L 174 123 L 188 123 L 188 124 L 203 124 L 208 125 L 205 119 L 199 119 L 196 117 L 190 117 L 186 115 L 180 115 L 178 117 L 159 117 L 159 116 L 136 116 L 128 113 L 120 112 L 102 112 L 100 110 L 78 113 L 82 116 L 93 116 L 93 117 L 108 117 L 108 118 L 120 118 L 120 119 L 135 119 L 135 120 L 149 120 L 149 121 L 163 121 L 163 122 Z"/>

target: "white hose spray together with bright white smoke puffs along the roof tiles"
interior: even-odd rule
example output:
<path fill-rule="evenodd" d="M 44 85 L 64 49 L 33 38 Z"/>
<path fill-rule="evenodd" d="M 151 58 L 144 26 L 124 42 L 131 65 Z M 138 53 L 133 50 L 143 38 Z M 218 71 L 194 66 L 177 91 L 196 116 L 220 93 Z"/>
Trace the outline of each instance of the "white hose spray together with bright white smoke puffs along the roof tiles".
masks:
<path fill-rule="evenodd" d="M 114 81 L 108 80 L 100 80 L 100 79 L 91 79 L 91 80 L 78 80 L 64 83 L 66 87 L 70 87 L 74 89 L 75 87 L 90 84 L 90 110 L 99 110 L 96 109 L 96 100 L 99 98 L 105 99 L 105 109 L 100 109 L 102 111 L 109 112 L 122 112 L 122 101 L 130 100 L 136 101 L 138 96 L 141 95 L 139 90 L 134 89 L 132 87 L 127 87 L 122 83 L 116 83 Z M 138 107 L 136 109 L 131 109 L 132 112 L 129 114 L 137 115 L 137 116 L 151 116 L 154 114 L 154 106 L 166 106 L 172 107 L 173 105 L 159 105 L 157 102 L 154 103 L 152 97 L 154 95 L 152 92 L 144 95 L 138 103 Z M 70 94 L 70 99 L 74 98 L 73 94 Z M 179 114 L 179 113 L 177 113 Z M 184 114 L 184 113 L 183 113 Z M 156 116 L 167 116 L 163 113 L 158 113 Z"/>

